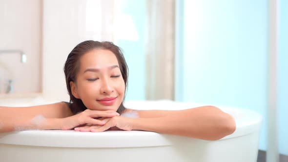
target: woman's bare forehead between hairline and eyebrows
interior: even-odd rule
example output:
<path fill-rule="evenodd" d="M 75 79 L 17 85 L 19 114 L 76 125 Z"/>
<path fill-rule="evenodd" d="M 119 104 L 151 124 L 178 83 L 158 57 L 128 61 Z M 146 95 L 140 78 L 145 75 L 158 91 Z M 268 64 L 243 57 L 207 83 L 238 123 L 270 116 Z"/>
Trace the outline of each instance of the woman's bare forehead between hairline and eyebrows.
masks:
<path fill-rule="evenodd" d="M 105 68 L 107 66 L 118 65 L 115 54 L 109 50 L 94 49 L 85 53 L 80 58 L 80 69 L 86 68 Z"/>

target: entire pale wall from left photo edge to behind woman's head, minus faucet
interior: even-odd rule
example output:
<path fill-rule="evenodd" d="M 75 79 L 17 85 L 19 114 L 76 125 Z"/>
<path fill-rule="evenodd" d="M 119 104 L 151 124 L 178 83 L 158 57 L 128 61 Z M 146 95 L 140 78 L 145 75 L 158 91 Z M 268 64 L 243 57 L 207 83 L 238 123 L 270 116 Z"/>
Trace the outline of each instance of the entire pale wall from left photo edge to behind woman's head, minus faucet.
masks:
<path fill-rule="evenodd" d="M 113 41 L 114 0 L 1 0 L 0 93 L 8 79 L 15 93 L 42 93 L 47 100 L 68 101 L 63 65 L 81 41 Z"/>

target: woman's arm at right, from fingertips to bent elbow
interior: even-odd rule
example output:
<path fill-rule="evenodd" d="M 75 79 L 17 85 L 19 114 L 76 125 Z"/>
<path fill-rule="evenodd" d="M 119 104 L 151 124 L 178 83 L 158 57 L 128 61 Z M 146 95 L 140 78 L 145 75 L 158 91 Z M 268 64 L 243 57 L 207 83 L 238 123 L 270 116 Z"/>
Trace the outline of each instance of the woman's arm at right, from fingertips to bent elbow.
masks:
<path fill-rule="evenodd" d="M 125 114 L 125 115 L 123 115 Z M 107 129 L 144 130 L 163 134 L 219 140 L 236 129 L 234 118 L 215 106 L 202 106 L 185 110 L 132 110 L 120 117 L 103 118 L 104 125 L 84 125 L 75 128 L 82 132 L 103 132 Z"/>

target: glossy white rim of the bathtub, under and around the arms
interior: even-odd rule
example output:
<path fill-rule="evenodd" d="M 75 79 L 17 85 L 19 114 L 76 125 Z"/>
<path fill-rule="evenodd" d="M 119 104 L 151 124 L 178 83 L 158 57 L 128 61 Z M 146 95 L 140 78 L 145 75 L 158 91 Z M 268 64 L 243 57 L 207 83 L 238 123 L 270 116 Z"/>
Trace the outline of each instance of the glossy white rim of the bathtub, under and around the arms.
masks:
<path fill-rule="evenodd" d="M 145 101 L 153 103 L 153 101 Z M 167 101 L 165 101 L 167 102 Z M 169 102 L 169 101 L 168 101 Z M 141 103 L 139 101 L 128 101 L 130 105 L 134 103 Z M 172 103 L 172 102 L 170 102 Z M 175 102 L 175 104 L 192 104 L 189 102 Z M 203 104 L 202 104 L 203 105 Z M 200 106 L 195 105 L 193 106 Z M 248 116 L 245 116 L 246 121 L 242 119 L 235 119 L 236 121 L 236 130 L 231 135 L 228 135 L 220 140 L 226 140 L 231 138 L 236 138 L 240 136 L 245 136 L 250 133 L 260 132 L 261 124 L 262 124 L 262 116 L 259 113 L 256 113 L 252 110 L 248 109 L 239 109 L 233 107 L 226 106 L 218 106 L 221 110 L 225 112 L 238 112 L 238 113 L 247 113 Z M 232 115 L 233 116 L 233 115 Z M 0 133 L 0 143 L 3 144 L 18 144 L 18 145 L 30 145 L 30 146 L 49 146 L 49 147 L 143 147 L 143 146 L 165 146 L 171 145 L 171 139 L 174 140 L 183 140 L 185 137 L 180 136 L 172 136 L 172 135 L 164 135 L 155 132 L 146 132 L 146 131 L 113 131 L 111 136 L 111 132 L 100 132 L 100 133 L 92 133 L 92 132 L 74 132 L 70 131 L 62 131 L 62 130 L 26 130 L 19 132 L 11 132 L 11 133 Z M 127 133 L 127 134 L 126 134 Z M 125 136 L 125 140 L 119 138 Z M 57 136 L 56 136 L 57 135 Z M 62 137 L 66 137 L 63 139 Z M 75 142 L 75 137 L 81 138 L 80 142 Z M 109 137 L 109 138 L 108 138 Z M 129 137 L 127 139 L 127 137 Z M 146 137 L 149 137 L 149 140 L 143 140 Z M 50 141 L 47 141 L 50 139 Z M 67 140 L 68 139 L 68 140 Z M 109 143 L 101 143 L 103 141 L 114 140 L 113 145 L 109 145 Z M 115 140 L 116 139 L 116 140 Z M 69 141 L 70 140 L 70 141 Z M 187 140 L 187 139 L 186 139 Z M 188 140 L 199 140 L 189 138 Z M 77 140 L 76 140 L 77 141 Z M 127 144 L 128 142 L 132 144 Z M 94 144 L 91 144 L 94 142 Z M 97 143 L 97 144 L 96 144 Z"/>

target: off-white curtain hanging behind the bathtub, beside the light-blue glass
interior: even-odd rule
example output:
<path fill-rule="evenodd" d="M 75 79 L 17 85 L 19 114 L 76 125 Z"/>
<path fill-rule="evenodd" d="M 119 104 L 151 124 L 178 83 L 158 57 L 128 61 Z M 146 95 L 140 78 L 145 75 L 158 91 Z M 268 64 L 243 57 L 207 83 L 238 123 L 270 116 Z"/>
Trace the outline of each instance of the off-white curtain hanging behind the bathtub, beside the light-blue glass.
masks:
<path fill-rule="evenodd" d="M 175 0 L 147 0 L 146 99 L 174 100 Z"/>

